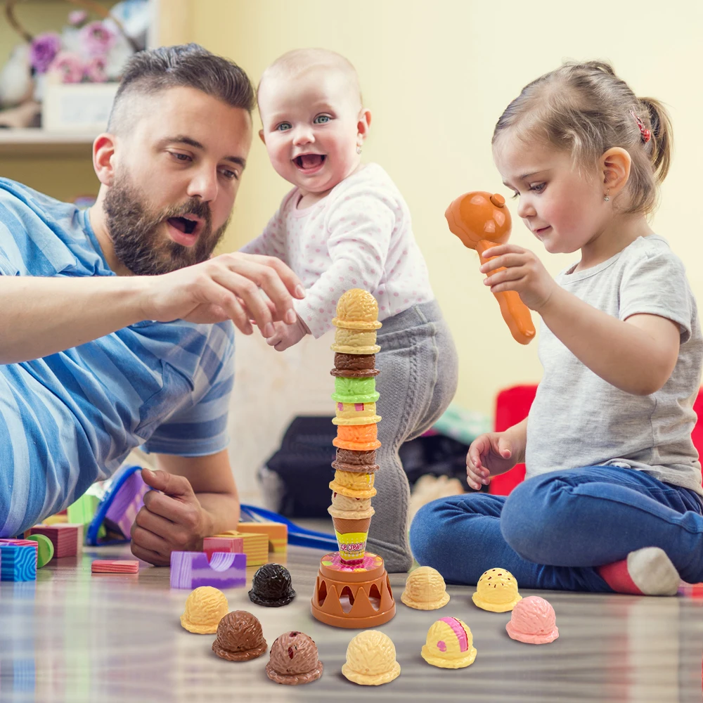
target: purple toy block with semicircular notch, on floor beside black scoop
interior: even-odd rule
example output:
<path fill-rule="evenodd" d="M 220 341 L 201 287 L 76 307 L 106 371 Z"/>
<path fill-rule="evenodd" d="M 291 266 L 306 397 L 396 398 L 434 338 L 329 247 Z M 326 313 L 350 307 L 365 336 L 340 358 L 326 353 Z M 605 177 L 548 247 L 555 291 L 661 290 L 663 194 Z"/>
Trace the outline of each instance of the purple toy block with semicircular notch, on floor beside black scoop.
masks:
<path fill-rule="evenodd" d="M 247 555 L 215 552 L 171 553 L 171 588 L 241 588 L 247 581 Z"/>

